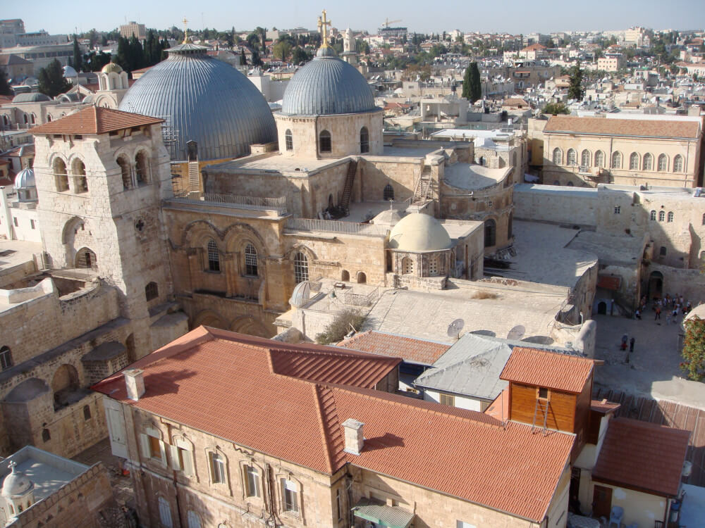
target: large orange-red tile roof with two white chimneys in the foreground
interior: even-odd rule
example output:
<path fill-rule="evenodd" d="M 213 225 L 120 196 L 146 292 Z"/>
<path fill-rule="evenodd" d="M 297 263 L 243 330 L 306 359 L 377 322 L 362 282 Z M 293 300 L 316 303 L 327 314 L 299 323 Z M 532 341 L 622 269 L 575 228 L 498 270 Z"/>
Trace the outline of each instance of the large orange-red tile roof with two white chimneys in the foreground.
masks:
<path fill-rule="evenodd" d="M 283 353 L 304 359 L 286 361 Z M 470 410 L 281 374 L 338 379 L 336 368 L 309 363 L 319 358 L 332 367 L 333 357 L 353 367 L 371 358 L 199 327 L 131 365 L 145 371 L 139 401 L 126 398 L 121 373 L 94 389 L 319 472 L 332 474 L 350 463 L 534 522 L 544 518 L 574 435 L 532 434 L 529 425 L 502 427 Z M 348 418 L 364 423 L 360 455 L 343 451 L 341 424 Z"/>

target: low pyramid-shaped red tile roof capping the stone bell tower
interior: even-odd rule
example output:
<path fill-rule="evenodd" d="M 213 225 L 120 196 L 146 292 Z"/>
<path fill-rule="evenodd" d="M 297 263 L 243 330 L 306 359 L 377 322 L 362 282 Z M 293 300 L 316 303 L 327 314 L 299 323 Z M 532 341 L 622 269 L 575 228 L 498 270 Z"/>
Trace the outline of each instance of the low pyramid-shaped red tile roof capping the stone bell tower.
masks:
<path fill-rule="evenodd" d="M 163 119 L 150 118 L 148 115 L 123 112 L 112 108 L 89 106 L 81 111 L 67 115 L 32 128 L 32 134 L 106 134 L 115 130 L 156 125 Z"/>

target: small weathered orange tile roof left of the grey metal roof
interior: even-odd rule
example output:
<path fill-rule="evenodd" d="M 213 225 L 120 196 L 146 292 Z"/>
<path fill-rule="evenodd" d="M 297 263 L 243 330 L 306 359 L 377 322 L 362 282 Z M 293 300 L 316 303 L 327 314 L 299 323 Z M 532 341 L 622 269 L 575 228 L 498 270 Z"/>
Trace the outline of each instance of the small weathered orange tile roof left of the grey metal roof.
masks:
<path fill-rule="evenodd" d="M 450 348 L 450 345 L 445 343 L 384 334 L 383 332 L 373 332 L 372 330 L 356 334 L 350 339 L 341 341 L 338 346 L 353 348 L 362 352 L 382 354 L 393 358 L 402 358 L 405 361 L 421 363 L 422 365 L 433 365 Z"/>

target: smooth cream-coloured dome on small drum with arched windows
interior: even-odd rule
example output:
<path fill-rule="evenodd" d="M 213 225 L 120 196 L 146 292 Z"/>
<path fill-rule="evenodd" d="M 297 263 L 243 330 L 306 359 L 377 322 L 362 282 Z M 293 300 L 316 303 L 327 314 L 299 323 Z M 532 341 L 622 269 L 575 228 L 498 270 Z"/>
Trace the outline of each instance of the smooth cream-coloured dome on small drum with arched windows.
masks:
<path fill-rule="evenodd" d="M 405 216 L 389 234 L 389 247 L 400 251 L 439 251 L 452 245 L 441 222 L 423 213 Z"/>

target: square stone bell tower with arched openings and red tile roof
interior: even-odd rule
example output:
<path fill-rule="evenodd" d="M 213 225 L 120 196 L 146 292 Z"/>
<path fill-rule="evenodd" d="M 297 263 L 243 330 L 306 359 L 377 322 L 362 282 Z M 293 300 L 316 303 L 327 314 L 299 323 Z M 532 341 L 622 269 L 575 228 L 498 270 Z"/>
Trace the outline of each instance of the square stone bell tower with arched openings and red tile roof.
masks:
<path fill-rule="evenodd" d="M 164 344 L 150 337 L 150 321 L 172 294 L 160 208 L 172 195 L 171 173 L 161 120 L 91 106 L 32 133 L 49 267 L 118 289 L 139 358 Z"/>

